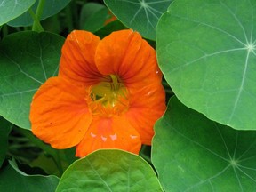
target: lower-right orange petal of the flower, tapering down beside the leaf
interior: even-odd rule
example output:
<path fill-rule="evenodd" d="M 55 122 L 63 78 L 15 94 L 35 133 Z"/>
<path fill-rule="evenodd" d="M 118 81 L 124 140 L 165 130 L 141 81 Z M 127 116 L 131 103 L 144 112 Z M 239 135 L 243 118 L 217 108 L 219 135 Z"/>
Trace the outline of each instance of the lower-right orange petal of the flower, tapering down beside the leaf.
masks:
<path fill-rule="evenodd" d="M 140 133 L 143 144 L 151 145 L 154 124 L 166 109 L 165 92 L 162 84 L 150 84 L 130 92 L 130 108 L 126 113 L 130 124 Z"/>

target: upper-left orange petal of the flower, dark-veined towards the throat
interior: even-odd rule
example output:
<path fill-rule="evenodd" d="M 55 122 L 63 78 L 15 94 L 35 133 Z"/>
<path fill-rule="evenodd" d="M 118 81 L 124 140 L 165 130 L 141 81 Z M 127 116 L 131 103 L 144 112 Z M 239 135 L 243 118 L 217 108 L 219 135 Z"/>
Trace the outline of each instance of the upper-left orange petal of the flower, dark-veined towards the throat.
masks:
<path fill-rule="evenodd" d="M 94 63 L 99 43 L 100 38 L 90 32 L 71 32 L 62 47 L 59 76 L 84 85 L 99 83 L 101 75 Z"/>

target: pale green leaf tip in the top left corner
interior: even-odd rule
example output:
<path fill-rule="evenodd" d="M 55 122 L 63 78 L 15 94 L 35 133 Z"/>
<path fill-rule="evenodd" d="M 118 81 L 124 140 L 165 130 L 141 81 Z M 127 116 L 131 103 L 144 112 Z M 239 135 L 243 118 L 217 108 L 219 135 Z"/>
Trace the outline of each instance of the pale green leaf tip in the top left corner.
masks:
<path fill-rule="evenodd" d="M 36 0 L 0 0 L 0 26 L 4 23 L 13 20 L 14 18 L 20 16 L 23 12 L 28 11 L 28 8 L 35 4 Z"/>

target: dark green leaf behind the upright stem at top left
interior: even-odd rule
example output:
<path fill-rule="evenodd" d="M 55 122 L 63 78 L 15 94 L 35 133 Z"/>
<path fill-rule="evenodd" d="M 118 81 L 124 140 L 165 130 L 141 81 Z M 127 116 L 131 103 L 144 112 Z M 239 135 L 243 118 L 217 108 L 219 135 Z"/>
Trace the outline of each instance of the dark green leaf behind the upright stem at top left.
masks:
<path fill-rule="evenodd" d="M 52 15 L 60 12 L 64 7 L 69 4 L 71 0 L 45 0 L 44 3 L 44 10 L 41 15 L 40 20 L 45 20 L 46 18 L 51 17 Z M 35 0 L 34 0 L 35 2 Z M 39 0 L 36 0 L 36 4 L 34 4 L 31 8 L 33 12 L 36 12 L 36 8 L 38 5 Z M 29 12 L 24 12 L 20 17 L 16 18 L 15 20 L 11 20 L 7 24 L 12 27 L 28 27 L 33 24 L 33 19 L 30 16 Z"/>

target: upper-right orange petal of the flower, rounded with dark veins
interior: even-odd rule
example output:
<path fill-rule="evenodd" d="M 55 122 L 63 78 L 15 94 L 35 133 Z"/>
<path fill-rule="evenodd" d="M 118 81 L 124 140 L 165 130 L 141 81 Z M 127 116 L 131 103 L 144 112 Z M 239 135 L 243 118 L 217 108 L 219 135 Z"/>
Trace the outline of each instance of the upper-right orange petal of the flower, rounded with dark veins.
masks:
<path fill-rule="evenodd" d="M 96 50 L 95 63 L 100 73 L 117 75 L 128 87 L 160 82 L 162 78 L 155 50 L 130 29 L 103 38 Z"/>

